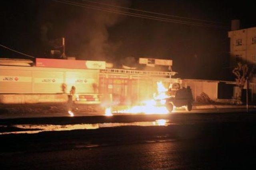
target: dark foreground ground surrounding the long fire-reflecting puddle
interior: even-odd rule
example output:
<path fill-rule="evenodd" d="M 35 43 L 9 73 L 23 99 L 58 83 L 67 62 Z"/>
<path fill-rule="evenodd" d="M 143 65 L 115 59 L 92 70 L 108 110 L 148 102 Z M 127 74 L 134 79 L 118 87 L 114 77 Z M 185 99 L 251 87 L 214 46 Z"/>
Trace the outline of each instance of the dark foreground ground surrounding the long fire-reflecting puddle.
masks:
<path fill-rule="evenodd" d="M 169 125 L 0 135 L 1 169 L 256 168 L 254 112 L 1 119 L 0 132 L 21 131 L 13 125 L 24 124 L 65 126 L 156 119 L 166 119 Z"/>

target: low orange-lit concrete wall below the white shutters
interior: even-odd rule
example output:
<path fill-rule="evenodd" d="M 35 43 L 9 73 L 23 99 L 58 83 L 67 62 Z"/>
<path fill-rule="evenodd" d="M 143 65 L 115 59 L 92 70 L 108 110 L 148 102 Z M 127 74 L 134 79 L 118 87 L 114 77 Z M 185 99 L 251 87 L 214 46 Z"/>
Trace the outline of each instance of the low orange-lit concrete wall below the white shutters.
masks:
<path fill-rule="evenodd" d="M 37 104 L 68 102 L 67 94 L 0 94 L 0 104 Z"/>

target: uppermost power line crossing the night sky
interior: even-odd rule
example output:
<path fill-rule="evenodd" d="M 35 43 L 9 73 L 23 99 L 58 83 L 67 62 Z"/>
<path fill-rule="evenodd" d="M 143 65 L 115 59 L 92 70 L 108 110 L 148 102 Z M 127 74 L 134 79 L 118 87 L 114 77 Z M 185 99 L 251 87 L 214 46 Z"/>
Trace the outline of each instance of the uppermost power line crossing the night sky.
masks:
<path fill-rule="evenodd" d="M 134 8 L 126 8 L 126 7 L 122 7 L 122 6 L 115 6 L 115 5 L 105 4 L 105 3 L 91 1 L 91 0 L 82 0 L 82 1 L 91 2 L 91 3 L 95 3 L 95 4 L 100 4 L 100 5 L 105 5 L 105 6 L 112 6 L 112 7 L 116 7 L 116 8 L 123 8 L 123 9 L 126 9 L 126 10 L 134 10 L 134 11 L 146 12 L 146 13 L 150 13 L 150 14 L 157 14 L 157 15 L 162 15 L 162 16 L 170 16 L 170 17 L 175 17 L 175 18 L 183 18 L 183 19 L 188 19 L 188 20 L 197 20 L 197 21 L 205 21 L 205 22 L 212 22 L 212 23 L 221 23 L 221 22 L 218 22 L 218 21 L 200 20 L 200 19 L 197 19 L 197 18 L 188 18 L 188 17 L 182 17 L 182 16 L 162 14 L 162 13 L 158 13 L 158 12 L 138 10 L 138 9 L 134 9 Z"/>

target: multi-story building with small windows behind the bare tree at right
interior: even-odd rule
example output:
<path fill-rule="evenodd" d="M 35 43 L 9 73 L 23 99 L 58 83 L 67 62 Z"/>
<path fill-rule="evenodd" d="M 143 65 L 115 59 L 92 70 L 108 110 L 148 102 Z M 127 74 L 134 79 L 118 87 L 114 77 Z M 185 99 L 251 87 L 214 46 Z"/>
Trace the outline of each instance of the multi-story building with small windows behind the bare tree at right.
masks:
<path fill-rule="evenodd" d="M 256 63 L 256 27 L 240 29 L 239 20 L 232 20 L 230 38 L 230 66 L 238 62 Z"/>

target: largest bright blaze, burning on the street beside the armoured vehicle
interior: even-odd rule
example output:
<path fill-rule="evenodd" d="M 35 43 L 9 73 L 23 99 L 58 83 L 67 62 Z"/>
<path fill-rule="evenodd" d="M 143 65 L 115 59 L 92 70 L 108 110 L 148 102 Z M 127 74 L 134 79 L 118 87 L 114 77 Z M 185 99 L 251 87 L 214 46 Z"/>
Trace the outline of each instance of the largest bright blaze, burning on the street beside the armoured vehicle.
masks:
<path fill-rule="evenodd" d="M 166 92 L 168 91 L 167 88 L 164 87 L 162 82 L 157 82 L 157 93 L 153 94 L 153 99 L 152 100 L 146 100 L 141 102 L 141 106 L 132 106 L 129 109 L 124 109 L 124 110 L 118 110 L 118 111 L 110 111 L 111 109 L 108 108 L 106 109 L 105 115 L 109 115 L 109 111 L 112 113 L 145 113 L 145 114 L 168 114 L 169 111 L 164 106 L 166 103 L 166 98 L 168 98 L 168 95 L 166 95 Z M 157 101 L 160 102 L 160 106 L 157 106 Z"/>

